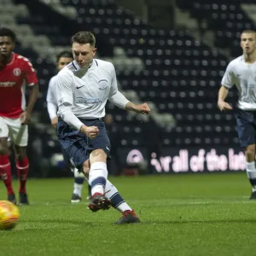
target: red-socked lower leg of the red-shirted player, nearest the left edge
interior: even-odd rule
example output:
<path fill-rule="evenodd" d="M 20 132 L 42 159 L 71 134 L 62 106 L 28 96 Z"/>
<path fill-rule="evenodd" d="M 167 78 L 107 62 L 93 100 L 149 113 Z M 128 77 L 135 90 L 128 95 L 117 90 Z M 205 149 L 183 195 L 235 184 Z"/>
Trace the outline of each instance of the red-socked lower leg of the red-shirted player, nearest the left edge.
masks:
<path fill-rule="evenodd" d="M 16 197 L 12 186 L 12 174 L 8 154 L 0 154 L 0 177 L 3 180 L 3 183 L 7 189 L 8 201 L 11 201 L 14 204 L 16 204 Z"/>

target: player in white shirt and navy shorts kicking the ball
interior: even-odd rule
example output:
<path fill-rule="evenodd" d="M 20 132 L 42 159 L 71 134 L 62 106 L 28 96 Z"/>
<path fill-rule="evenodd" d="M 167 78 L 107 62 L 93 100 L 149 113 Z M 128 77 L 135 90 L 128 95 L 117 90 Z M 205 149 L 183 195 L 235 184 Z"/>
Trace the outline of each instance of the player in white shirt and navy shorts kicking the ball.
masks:
<path fill-rule="evenodd" d="M 75 61 L 57 75 L 58 116 L 57 135 L 62 148 L 73 165 L 89 177 L 92 212 L 106 210 L 111 205 L 123 212 L 116 224 L 139 222 L 131 207 L 108 181 L 106 160 L 111 144 L 102 122 L 108 100 L 119 108 L 147 114 L 147 103 L 135 105 L 123 96 L 117 87 L 113 64 L 93 59 L 96 39 L 91 32 L 73 35 L 72 49 Z"/>

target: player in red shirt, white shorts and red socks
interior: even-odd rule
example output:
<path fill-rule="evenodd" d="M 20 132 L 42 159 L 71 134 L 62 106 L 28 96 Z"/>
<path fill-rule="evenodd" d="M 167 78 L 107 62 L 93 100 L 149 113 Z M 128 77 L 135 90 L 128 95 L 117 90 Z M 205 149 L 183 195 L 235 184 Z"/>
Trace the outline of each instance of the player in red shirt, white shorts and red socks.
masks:
<path fill-rule="evenodd" d="M 15 145 L 16 167 L 20 179 L 19 202 L 27 205 L 27 124 L 38 99 L 38 78 L 31 62 L 13 52 L 15 40 L 15 32 L 0 27 L 0 177 L 7 188 L 8 200 L 16 203 L 7 143 L 8 137 L 11 137 Z M 26 85 L 30 88 L 27 105 Z"/>

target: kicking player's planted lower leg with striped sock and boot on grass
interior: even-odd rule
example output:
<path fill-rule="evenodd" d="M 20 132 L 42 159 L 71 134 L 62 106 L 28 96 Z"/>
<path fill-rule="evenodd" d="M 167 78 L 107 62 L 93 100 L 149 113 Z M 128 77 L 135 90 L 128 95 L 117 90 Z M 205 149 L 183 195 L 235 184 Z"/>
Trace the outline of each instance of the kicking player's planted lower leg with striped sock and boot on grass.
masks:
<path fill-rule="evenodd" d="M 133 224 L 141 222 L 134 210 L 128 206 L 123 197 L 119 194 L 118 189 L 116 189 L 109 180 L 106 183 L 105 191 L 105 195 L 111 201 L 112 207 L 122 212 L 122 217 L 114 224 Z"/>

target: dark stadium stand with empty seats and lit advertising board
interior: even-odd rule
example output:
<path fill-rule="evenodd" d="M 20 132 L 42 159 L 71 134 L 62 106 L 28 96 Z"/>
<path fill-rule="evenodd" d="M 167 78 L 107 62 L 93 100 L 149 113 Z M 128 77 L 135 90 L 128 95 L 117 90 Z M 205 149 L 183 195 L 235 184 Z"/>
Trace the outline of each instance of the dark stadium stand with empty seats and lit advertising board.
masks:
<path fill-rule="evenodd" d="M 108 103 L 113 116 L 111 174 L 229 172 L 245 168 L 233 111 L 217 96 L 228 62 L 241 55 L 240 32 L 253 29 L 253 0 L 1 0 L 1 26 L 37 69 L 40 96 L 30 126 L 31 177 L 71 176 L 46 108 L 55 55 L 73 33 L 96 35 L 97 58 L 112 61 L 119 89 L 148 102 L 150 117 Z M 15 7 L 15 8 L 14 8 Z M 228 101 L 235 107 L 236 89 Z"/>

